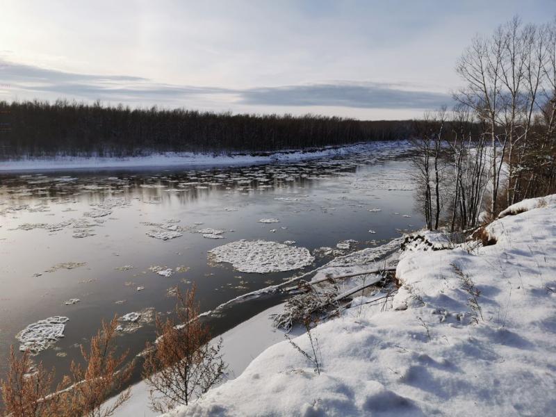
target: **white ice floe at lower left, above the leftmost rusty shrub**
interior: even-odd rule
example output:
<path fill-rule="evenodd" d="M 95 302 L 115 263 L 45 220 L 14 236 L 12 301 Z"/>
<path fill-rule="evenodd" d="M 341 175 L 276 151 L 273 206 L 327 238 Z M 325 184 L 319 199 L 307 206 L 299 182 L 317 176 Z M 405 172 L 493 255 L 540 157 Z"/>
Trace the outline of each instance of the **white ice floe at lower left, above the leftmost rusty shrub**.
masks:
<path fill-rule="evenodd" d="M 53 316 L 28 325 L 15 336 L 21 342 L 19 350 L 38 354 L 48 349 L 64 337 L 65 322 L 68 320 L 64 316 Z"/>

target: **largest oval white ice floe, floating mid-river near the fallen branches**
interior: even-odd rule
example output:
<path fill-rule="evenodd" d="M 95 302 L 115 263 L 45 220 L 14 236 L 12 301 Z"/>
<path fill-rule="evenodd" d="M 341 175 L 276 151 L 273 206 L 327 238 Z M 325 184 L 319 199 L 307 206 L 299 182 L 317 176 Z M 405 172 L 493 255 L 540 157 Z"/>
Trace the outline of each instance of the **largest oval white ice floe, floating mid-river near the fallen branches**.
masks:
<path fill-rule="evenodd" d="M 227 262 L 240 272 L 280 272 L 304 268 L 315 258 L 304 247 L 269 240 L 238 240 L 208 251 L 215 262 Z"/>

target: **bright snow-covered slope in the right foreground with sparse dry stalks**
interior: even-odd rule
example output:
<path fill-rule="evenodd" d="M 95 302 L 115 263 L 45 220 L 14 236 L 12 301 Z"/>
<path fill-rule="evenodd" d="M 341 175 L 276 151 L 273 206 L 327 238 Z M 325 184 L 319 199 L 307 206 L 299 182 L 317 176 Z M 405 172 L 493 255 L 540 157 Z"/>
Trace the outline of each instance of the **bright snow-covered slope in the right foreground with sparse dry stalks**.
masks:
<path fill-rule="evenodd" d="M 282 341 L 169 415 L 553 416 L 556 199 L 507 214 L 486 227 L 493 245 L 407 245 L 386 309 L 359 297 L 313 329 L 320 375 Z"/>

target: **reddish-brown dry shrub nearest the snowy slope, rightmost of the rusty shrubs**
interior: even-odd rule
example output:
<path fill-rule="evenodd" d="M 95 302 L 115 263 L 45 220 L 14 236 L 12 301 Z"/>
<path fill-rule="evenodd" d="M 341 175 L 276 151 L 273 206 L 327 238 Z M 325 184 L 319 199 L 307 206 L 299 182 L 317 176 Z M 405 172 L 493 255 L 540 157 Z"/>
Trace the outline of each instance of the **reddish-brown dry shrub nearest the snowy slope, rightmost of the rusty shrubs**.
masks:
<path fill-rule="evenodd" d="M 208 327 L 199 320 L 195 286 L 177 292 L 176 315 L 165 322 L 156 317 L 157 341 L 147 344 L 143 375 L 151 388 L 154 411 L 187 405 L 217 384 L 226 370 L 220 350 L 222 339 L 210 343 Z"/>

